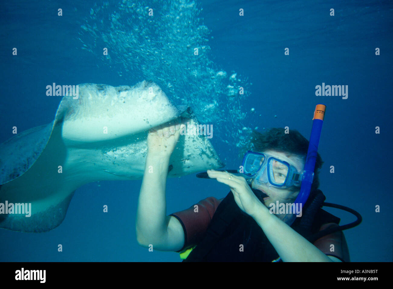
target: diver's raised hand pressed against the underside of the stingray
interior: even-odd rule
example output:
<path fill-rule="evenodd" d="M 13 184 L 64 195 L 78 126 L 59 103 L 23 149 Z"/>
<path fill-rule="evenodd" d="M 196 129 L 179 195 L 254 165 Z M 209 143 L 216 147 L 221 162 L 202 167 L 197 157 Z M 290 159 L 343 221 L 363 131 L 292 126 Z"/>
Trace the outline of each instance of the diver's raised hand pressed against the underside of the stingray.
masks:
<path fill-rule="evenodd" d="M 184 123 L 168 123 L 151 129 L 147 136 L 147 155 L 169 158 L 183 127 Z"/>

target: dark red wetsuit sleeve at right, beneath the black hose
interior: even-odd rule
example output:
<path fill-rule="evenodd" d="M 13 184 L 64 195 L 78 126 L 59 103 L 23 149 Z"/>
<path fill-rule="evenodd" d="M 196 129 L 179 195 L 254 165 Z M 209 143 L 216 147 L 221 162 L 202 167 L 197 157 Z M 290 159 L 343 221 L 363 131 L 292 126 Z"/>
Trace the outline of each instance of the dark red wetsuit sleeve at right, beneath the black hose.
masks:
<path fill-rule="evenodd" d="M 328 223 L 321 226 L 320 231 L 326 228 L 338 227 L 336 223 Z M 342 231 L 323 236 L 314 242 L 315 247 L 324 254 L 334 256 L 343 262 L 350 262 L 347 241 Z M 334 247 L 332 247 L 334 245 Z M 333 251 L 334 248 L 334 251 Z"/>

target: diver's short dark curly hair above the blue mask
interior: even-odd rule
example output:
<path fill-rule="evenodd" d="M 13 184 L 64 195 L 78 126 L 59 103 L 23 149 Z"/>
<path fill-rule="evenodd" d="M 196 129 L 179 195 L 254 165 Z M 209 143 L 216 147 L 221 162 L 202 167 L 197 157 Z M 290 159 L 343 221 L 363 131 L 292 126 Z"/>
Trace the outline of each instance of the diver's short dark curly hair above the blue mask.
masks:
<path fill-rule="evenodd" d="M 306 158 L 309 148 L 309 141 L 301 135 L 297 130 L 290 129 L 289 133 L 285 133 L 283 128 L 271 128 L 264 133 L 253 130 L 250 133 L 247 144 L 241 149 L 241 155 L 250 151 L 267 151 L 275 150 L 283 153 L 299 155 Z M 322 167 L 323 161 L 320 154 L 317 154 L 314 169 L 314 180 L 311 185 L 311 191 L 319 187 L 319 169 Z"/>

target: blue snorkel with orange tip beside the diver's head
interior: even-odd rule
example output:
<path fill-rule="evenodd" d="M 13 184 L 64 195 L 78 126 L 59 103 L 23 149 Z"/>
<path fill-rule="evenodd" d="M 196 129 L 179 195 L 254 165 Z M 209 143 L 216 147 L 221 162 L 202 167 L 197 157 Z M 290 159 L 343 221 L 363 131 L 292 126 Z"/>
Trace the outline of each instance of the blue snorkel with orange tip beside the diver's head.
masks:
<path fill-rule="evenodd" d="M 307 158 L 303 169 L 303 178 L 301 182 L 300 192 L 295 200 L 295 204 L 299 204 L 301 208 L 304 207 L 305 202 L 309 198 L 311 191 L 311 184 L 314 178 L 315 162 L 318 155 L 318 144 L 321 136 L 323 117 L 325 116 L 326 105 L 317 104 L 314 111 L 314 118 L 312 121 L 312 129 L 310 135 L 309 149 L 307 151 Z M 296 219 L 296 214 L 288 214 L 285 217 L 285 223 L 289 226 Z"/>

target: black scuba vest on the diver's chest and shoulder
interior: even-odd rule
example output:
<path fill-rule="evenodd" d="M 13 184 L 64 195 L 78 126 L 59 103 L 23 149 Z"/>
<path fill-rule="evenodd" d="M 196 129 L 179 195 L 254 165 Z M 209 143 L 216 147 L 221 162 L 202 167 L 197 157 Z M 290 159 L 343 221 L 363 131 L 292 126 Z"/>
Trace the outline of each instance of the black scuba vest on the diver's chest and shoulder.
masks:
<path fill-rule="evenodd" d="M 253 192 L 263 202 L 260 191 Z M 314 201 L 317 199 L 320 201 Z M 291 225 L 311 242 L 314 241 L 312 234 L 318 232 L 321 225 L 340 223 L 338 217 L 321 209 L 324 200 L 322 191 L 311 193 L 303 207 L 302 217 L 297 217 Z M 183 261 L 271 262 L 277 258 L 279 256 L 262 228 L 252 217 L 242 212 L 230 191 L 217 207 L 202 241 Z"/>

